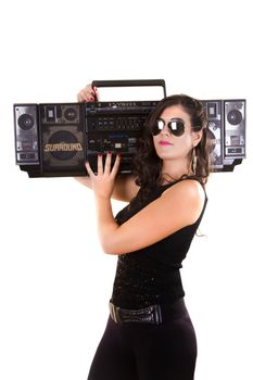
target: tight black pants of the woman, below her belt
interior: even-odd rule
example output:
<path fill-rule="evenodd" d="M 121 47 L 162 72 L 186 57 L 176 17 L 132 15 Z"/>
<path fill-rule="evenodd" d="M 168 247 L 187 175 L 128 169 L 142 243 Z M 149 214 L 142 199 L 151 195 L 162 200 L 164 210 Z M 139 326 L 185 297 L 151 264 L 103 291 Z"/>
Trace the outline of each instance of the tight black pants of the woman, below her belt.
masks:
<path fill-rule="evenodd" d="M 197 341 L 186 313 L 159 326 L 109 318 L 88 380 L 193 380 Z"/>

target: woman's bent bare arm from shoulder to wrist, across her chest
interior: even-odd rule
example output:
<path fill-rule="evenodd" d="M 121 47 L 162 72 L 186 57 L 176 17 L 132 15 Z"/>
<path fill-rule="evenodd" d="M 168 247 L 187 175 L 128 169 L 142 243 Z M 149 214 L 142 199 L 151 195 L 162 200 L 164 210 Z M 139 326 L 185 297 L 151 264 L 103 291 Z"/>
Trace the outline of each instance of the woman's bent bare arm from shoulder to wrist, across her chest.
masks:
<path fill-rule="evenodd" d="M 192 179 L 186 179 L 164 191 L 122 226 L 111 211 L 111 202 L 96 198 L 98 228 L 105 253 L 121 255 L 135 252 L 165 239 L 197 221 L 204 205 L 204 190 Z"/>

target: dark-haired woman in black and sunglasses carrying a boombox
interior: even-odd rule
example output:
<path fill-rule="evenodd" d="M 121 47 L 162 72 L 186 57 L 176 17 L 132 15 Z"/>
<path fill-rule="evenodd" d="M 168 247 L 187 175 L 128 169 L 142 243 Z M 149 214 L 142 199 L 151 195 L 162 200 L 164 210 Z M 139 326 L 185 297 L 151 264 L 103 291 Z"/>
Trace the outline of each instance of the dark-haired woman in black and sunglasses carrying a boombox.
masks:
<path fill-rule="evenodd" d="M 94 100 L 90 86 L 78 100 Z M 172 96 L 144 126 L 136 173 L 116 176 L 121 157 L 79 179 L 94 192 L 99 237 L 118 256 L 110 318 L 89 380 L 192 380 L 195 333 L 180 273 L 206 205 L 206 115 L 201 103 Z M 116 217 L 111 198 L 129 202 Z"/>

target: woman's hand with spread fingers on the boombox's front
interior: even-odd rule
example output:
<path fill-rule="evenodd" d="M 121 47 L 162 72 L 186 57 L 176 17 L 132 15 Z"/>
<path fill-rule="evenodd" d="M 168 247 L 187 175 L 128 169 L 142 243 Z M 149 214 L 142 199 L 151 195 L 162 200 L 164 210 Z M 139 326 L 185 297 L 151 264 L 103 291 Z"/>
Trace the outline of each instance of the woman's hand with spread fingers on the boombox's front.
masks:
<path fill-rule="evenodd" d="M 85 163 L 88 175 L 91 179 L 91 188 L 94 195 L 101 199 L 110 199 L 113 193 L 116 174 L 121 163 L 121 155 L 116 155 L 116 160 L 112 166 L 112 153 L 106 154 L 105 164 L 103 166 L 102 154 L 98 155 L 98 174 L 96 175 L 88 162 Z M 112 166 L 112 168 L 111 168 Z"/>

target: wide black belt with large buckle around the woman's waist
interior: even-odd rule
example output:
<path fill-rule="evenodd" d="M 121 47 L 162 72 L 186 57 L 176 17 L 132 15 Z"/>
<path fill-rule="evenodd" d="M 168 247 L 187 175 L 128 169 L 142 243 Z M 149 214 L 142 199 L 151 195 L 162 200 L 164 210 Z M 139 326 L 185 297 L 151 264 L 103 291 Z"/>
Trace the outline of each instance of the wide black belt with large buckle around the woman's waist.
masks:
<path fill-rule="evenodd" d="M 163 321 L 173 320 L 188 314 L 184 299 L 176 301 L 172 305 L 151 305 L 139 309 L 128 309 L 109 304 L 111 318 L 116 324 L 140 322 L 161 325 Z"/>

